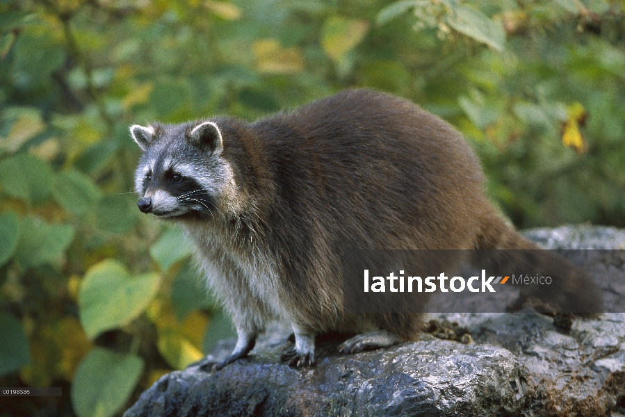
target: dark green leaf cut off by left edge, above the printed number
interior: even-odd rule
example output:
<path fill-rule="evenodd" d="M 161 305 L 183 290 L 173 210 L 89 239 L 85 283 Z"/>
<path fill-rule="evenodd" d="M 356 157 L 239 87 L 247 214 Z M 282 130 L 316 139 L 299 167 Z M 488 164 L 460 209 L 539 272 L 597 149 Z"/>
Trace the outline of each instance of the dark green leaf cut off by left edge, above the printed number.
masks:
<path fill-rule="evenodd" d="M 15 317 L 0 311 L 0 376 L 15 372 L 31 361 L 24 327 Z"/>

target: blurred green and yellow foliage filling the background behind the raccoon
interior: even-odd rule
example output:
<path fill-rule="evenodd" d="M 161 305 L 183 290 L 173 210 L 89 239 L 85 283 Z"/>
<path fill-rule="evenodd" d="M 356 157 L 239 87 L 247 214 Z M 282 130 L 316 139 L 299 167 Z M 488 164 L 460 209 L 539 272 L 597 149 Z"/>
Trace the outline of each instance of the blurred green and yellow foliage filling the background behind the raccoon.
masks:
<path fill-rule="evenodd" d="M 0 416 L 119 414 L 232 334 L 179 232 L 136 208 L 130 124 L 377 88 L 460 129 L 518 227 L 624 227 L 624 8 L 0 1 L 0 386 L 64 392 Z"/>

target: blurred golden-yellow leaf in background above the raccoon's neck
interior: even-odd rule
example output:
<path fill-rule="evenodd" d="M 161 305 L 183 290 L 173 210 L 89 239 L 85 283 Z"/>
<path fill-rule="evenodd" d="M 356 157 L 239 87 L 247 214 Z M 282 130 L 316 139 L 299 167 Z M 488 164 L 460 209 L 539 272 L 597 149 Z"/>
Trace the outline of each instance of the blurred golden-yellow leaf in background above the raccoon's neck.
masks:
<path fill-rule="evenodd" d="M 261 39 L 254 42 L 253 49 L 260 72 L 293 74 L 304 69 L 302 52 L 296 47 L 283 48 L 275 39 Z"/>

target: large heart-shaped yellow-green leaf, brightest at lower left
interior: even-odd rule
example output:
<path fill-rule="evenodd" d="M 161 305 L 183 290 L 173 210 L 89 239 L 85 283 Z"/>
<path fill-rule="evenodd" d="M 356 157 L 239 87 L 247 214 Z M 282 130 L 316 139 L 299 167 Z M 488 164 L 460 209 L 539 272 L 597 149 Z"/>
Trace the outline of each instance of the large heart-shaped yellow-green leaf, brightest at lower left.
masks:
<path fill-rule="evenodd" d="M 160 284 L 158 274 L 131 277 L 117 261 L 92 266 L 78 294 L 80 320 L 87 336 L 95 338 L 106 330 L 127 325 L 143 313 Z"/>

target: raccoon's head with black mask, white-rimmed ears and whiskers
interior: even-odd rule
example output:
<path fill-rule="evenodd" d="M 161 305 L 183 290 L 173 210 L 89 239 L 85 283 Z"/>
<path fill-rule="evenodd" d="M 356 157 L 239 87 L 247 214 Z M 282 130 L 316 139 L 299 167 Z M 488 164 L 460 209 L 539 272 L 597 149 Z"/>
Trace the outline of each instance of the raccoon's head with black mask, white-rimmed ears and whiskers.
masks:
<path fill-rule="evenodd" d="M 159 217 L 215 218 L 236 194 L 232 167 L 222 157 L 214 122 L 130 127 L 143 150 L 135 175 L 137 203 Z"/>

